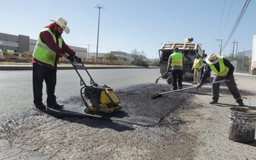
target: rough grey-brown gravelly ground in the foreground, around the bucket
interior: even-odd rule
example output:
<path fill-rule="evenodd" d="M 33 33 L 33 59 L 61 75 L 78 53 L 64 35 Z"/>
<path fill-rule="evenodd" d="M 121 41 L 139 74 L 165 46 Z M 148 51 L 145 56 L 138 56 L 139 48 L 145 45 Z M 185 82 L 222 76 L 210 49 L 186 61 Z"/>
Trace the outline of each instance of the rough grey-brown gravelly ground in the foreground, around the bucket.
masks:
<path fill-rule="evenodd" d="M 228 140 L 234 99 L 227 88 L 221 87 L 214 105 L 209 104 L 211 86 L 187 93 L 192 92 L 193 99 L 150 127 L 35 110 L 1 124 L 0 141 L 6 145 L 0 145 L 0 159 L 256 159 L 256 143 Z M 255 93 L 241 93 L 255 108 Z"/>

